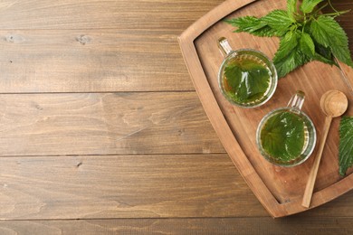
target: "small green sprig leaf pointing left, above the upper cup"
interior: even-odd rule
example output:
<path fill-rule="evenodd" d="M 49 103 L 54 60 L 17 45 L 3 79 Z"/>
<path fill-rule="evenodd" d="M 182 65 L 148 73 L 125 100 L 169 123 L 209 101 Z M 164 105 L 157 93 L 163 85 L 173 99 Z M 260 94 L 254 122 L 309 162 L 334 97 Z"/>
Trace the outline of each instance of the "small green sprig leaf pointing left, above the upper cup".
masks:
<path fill-rule="evenodd" d="M 269 25 L 277 32 L 286 32 L 288 31 L 288 28 L 291 26 L 291 24 L 293 24 L 287 11 L 284 10 L 274 10 L 260 18 L 260 21 Z"/>

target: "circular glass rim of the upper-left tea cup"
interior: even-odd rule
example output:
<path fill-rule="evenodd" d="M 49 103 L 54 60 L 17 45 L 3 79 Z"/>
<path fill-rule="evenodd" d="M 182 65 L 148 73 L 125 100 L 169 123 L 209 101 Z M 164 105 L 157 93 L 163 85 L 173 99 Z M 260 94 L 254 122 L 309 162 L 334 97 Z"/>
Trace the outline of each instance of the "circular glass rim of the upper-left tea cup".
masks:
<path fill-rule="evenodd" d="M 271 90 L 271 92 L 268 94 L 268 96 L 266 97 L 266 99 L 263 99 L 262 102 L 258 103 L 258 104 L 255 104 L 255 105 L 252 105 L 252 106 L 247 106 L 247 105 L 242 105 L 242 104 L 239 104 L 239 103 L 236 103 L 233 99 L 230 99 L 224 92 L 224 89 L 222 87 L 222 75 L 223 75 L 223 71 L 224 71 L 224 65 L 225 65 L 225 62 L 228 61 L 232 56 L 234 56 L 234 53 L 238 53 L 238 52 L 255 52 L 255 53 L 258 53 L 260 54 L 264 59 L 266 59 L 267 61 L 265 61 L 266 63 L 268 62 L 270 67 L 271 67 L 271 70 L 272 70 L 272 82 L 273 82 L 273 89 Z M 219 89 L 221 90 L 221 93 L 222 95 L 224 96 L 225 99 L 227 99 L 232 105 L 234 106 L 237 106 L 237 107 L 241 107 L 241 108 L 257 108 L 257 107 L 260 107 L 262 106 L 263 104 L 265 104 L 267 101 L 269 101 L 274 92 L 276 91 L 277 89 L 277 84 L 278 84 L 278 73 L 277 73 L 277 70 L 276 70 L 276 67 L 274 66 L 273 64 L 273 61 L 266 55 L 264 54 L 263 52 L 261 51 L 258 51 L 258 50 L 255 50 L 255 49 L 252 49 L 252 48 L 242 48 L 242 49 L 238 49 L 238 50 L 233 50 L 232 52 L 230 52 L 226 57 L 224 57 L 224 60 L 222 61 L 221 63 L 221 66 L 219 68 L 219 71 L 218 71 L 218 87 Z"/>

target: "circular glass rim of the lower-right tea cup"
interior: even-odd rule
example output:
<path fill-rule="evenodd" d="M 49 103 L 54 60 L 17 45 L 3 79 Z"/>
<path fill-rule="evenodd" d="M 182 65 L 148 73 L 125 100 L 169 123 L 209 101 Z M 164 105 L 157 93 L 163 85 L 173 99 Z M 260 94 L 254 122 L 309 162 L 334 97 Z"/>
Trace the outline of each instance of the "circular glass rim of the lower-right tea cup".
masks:
<path fill-rule="evenodd" d="M 310 126 L 312 127 L 312 132 L 313 132 L 313 135 L 312 135 L 312 138 L 313 138 L 313 142 L 312 142 L 312 147 L 308 153 L 308 155 L 306 155 L 303 159 L 301 159 L 301 161 L 297 162 L 297 163 L 294 163 L 294 164 L 280 164 L 280 163 L 276 163 L 274 161 L 271 160 L 271 158 L 265 156 L 262 154 L 262 152 L 265 152 L 262 148 L 262 144 L 261 144 L 261 141 L 260 141 L 260 132 L 261 132 L 261 129 L 265 123 L 265 120 L 267 118 L 269 118 L 270 116 L 272 116 L 274 113 L 276 112 L 279 112 L 281 110 L 289 110 L 291 112 L 294 111 L 294 113 L 296 114 L 299 114 L 301 116 L 303 116 L 304 118 L 307 118 L 309 120 L 309 123 L 310 123 Z M 317 142 L 317 132 L 316 132 L 316 128 L 315 128 L 315 125 L 314 123 L 312 122 L 311 118 L 303 111 L 301 111 L 300 109 L 297 109 L 297 108 L 291 108 L 291 107 L 282 107 L 282 108 L 275 108 L 273 109 L 272 111 L 270 111 L 269 113 L 267 113 L 260 121 L 259 125 L 257 126 L 257 129 L 256 129 L 256 146 L 260 152 L 260 155 L 262 155 L 262 157 L 267 160 L 269 163 L 271 164 L 275 164 L 275 165 L 278 165 L 278 166 L 281 166 L 281 167 L 286 167 L 286 168 L 290 168 L 290 167 L 294 167 L 294 166 L 297 166 L 297 165 L 300 165 L 300 164 L 303 164 L 305 161 L 307 161 L 310 157 L 310 155 L 312 155 L 312 153 L 314 152 L 315 150 L 315 146 L 316 146 L 316 142 Z"/>

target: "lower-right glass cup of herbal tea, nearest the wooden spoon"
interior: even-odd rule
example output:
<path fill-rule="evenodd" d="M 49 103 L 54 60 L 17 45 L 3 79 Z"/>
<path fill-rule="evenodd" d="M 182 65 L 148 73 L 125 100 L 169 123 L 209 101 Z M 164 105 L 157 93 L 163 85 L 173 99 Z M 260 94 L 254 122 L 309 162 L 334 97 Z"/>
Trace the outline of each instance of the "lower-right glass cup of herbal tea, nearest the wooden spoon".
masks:
<path fill-rule="evenodd" d="M 316 144 L 311 119 L 301 111 L 305 94 L 298 90 L 285 108 L 277 108 L 262 118 L 256 144 L 272 164 L 291 167 L 306 161 Z"/>

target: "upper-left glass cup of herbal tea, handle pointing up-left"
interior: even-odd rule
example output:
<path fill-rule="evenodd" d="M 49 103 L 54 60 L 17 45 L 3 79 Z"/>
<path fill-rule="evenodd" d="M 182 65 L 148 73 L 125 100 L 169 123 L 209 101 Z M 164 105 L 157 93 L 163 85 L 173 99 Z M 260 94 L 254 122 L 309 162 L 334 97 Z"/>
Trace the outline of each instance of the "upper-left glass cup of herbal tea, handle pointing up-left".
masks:
<path fill-rule="evenodd" d="M 238 107 L 255 108 L 272 98 L 278 77 L 266 55 L 253 49 L 234 51 L 224 37 L 218 46 L 224 54 L 218 85 L 225 99 Z"/>

